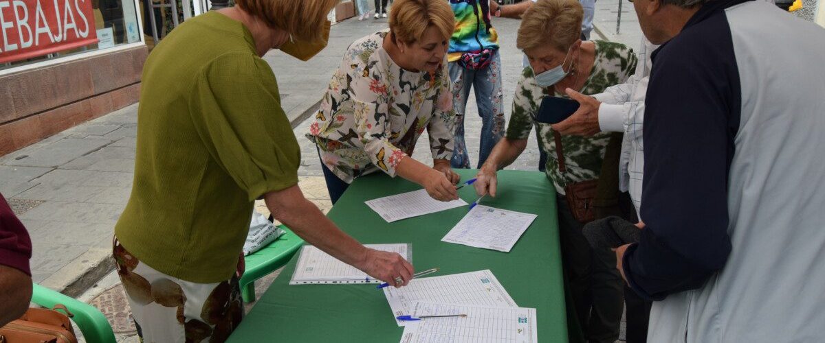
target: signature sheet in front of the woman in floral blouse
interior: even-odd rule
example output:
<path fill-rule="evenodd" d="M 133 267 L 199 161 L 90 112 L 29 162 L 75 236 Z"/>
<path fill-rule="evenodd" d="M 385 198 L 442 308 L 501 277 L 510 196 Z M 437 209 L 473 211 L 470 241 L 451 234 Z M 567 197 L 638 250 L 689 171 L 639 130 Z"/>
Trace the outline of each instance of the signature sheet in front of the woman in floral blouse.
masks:
<path fill-rule="evenodd" d="M 380 197 L 365 203 L 388 223 L 467 205 L 467 202 L 461 199 L 440 202 L 431 198 L 426 189 Z"/>

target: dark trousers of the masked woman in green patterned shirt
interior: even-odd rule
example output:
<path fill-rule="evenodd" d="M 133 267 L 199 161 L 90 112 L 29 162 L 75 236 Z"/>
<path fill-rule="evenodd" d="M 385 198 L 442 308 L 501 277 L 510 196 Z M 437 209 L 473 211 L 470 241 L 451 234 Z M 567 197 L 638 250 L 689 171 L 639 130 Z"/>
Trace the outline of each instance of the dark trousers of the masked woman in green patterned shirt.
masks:
<path fill-rule="evenodd" d="M 624 308 L 623 281 L 615 269 L 615 254 L 594 251 L 582 234 L 584 225 L 573 217 L 567 199 L 558 196 L 557 200 L 562 267 L 573 301 L 568 304 L 568 317 L 575 316 L 585 341 L 612 343 L 619 339 Z"/>

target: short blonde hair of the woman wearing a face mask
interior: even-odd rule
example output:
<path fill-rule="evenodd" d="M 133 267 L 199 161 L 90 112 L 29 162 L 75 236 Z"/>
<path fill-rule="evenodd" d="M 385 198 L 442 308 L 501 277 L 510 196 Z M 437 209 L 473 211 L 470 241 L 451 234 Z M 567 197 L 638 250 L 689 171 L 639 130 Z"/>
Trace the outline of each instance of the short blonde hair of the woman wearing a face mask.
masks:
<path fill-rule="evenodd" d="M 539 0 L 521 16 L 516 47 L 529 50 L 549 44 L 567 51 L 582 36 L 583 16 L 577 0 Z"/>

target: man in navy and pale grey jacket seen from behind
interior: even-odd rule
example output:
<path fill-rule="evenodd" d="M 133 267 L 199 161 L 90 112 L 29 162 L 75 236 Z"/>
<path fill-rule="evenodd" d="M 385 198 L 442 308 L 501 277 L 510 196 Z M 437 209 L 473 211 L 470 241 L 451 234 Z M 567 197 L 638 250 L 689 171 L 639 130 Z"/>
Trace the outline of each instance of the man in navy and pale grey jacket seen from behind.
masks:
<path fill-rule="evenodd" d="M 766 2 L 635 0 L 653 52 L 639 243 L 651 342 L 825 336 L 825 30 Z"/>

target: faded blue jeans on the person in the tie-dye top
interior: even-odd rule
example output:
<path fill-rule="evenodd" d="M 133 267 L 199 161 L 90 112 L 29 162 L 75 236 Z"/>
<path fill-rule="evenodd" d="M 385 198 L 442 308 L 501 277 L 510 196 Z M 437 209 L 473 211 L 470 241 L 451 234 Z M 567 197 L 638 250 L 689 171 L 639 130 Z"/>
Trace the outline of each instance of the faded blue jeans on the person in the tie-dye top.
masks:
<path fill-rule="evenodd" d="M 455 149 L 450 165 L 453 168 L 470 168 L 467 145 L 464 142 L 464 111 L 467 108 L 469 90 L 475 90 L 475 103 L 481 117 L 481 137 L 479 144 L 479 164 L 493 151 L 493 146 L 504 137 L 504 96 L 502 93 L 502 63 L 498 51 L 493 60 L 482 70 L 471 70 L 458 62 L 450 62 L 452 80 L 453 109 L 455 109 Z"/>

